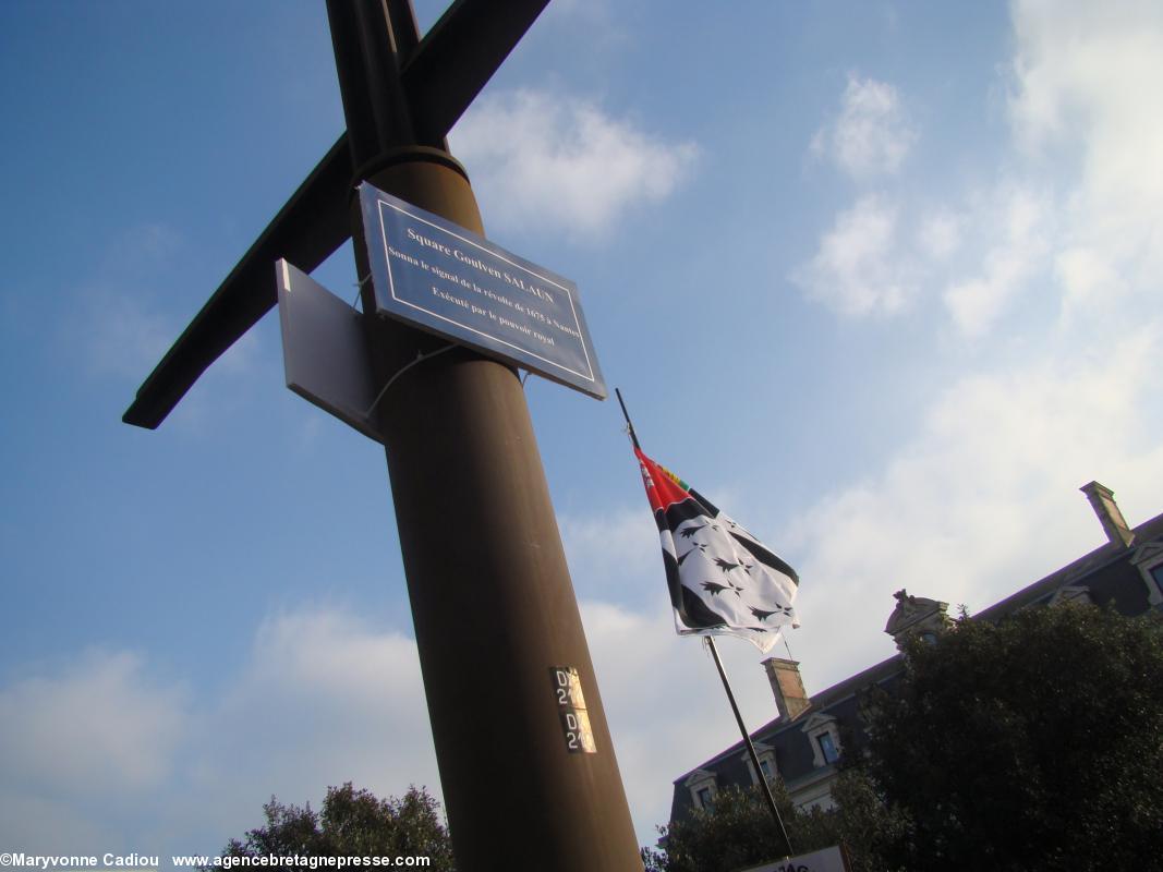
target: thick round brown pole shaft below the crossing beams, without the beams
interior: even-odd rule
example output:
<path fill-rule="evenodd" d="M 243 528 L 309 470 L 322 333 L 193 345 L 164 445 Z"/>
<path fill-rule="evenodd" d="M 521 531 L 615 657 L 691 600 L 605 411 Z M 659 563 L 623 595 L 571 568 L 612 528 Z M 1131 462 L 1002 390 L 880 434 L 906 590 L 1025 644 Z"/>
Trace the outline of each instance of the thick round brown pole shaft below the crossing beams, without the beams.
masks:
<path fill-rule="evenodd" d="M 483 233 L 447 152 L 377 165 L 380 190 Z M 358 202 L 351 214 L 365 277 Z M 378 384 L 448 344 L 390 321 L 370 331 Z M 457 869 L 641 872 L 518 374 L 458 349 L 412 366 L 377 413 Z M 554 667 L 578 672 L 593 753 L 568 748 Z"/>

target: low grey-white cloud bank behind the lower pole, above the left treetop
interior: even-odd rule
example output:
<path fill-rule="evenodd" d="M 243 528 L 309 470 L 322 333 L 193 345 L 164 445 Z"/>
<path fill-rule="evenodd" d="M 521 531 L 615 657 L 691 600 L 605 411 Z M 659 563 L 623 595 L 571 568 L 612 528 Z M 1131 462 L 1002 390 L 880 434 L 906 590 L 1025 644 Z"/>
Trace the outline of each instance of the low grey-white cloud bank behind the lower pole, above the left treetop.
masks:
<path fill-rule="evenodd" d="M 652 600 L 582 612 L 635 828 L 652 843 L 671 780 L 736 735 L 714 665 L 675 634 L 657 542 L 627 553 L 635 566 L 651 558 L 633 581 Z M 722 650 L 745 716 L 770 720 L 755 650 Z M 15 682 L 0 689 L 0 755 L 20 788 L 0 792 L 0 841 L 53 852 L 215 851 L 272 794 L 317 803 L 347 779 L 383 796 L 409 784 L 440 795 L 415 643 L 336 608 L 263 621 L 216 696 L 154 681 L 128 653 Z M 33 825 L 44 815 L 51 827 Z"/>

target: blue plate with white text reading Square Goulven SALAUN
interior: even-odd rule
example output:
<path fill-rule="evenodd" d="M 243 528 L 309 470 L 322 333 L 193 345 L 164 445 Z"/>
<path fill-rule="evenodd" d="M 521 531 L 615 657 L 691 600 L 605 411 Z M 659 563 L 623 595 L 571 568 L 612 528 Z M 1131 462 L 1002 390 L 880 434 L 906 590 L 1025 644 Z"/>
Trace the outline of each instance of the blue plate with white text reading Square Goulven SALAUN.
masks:
<path fill-rule="evenodd" d="M 366 181 L 359 202 L 378 315 L 606 399 L 577 285 Z"/>

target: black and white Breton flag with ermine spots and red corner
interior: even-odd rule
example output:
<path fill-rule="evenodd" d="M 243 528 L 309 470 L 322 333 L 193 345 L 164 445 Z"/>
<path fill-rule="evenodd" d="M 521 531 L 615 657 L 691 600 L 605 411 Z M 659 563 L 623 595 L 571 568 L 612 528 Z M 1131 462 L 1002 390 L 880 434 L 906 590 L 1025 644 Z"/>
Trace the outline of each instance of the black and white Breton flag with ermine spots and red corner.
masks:
<path fill-rule="evenodd" d="M 636 445 L 680 636 L 728 635 L 766 653 L 799 627 L 795 570 Z"/>

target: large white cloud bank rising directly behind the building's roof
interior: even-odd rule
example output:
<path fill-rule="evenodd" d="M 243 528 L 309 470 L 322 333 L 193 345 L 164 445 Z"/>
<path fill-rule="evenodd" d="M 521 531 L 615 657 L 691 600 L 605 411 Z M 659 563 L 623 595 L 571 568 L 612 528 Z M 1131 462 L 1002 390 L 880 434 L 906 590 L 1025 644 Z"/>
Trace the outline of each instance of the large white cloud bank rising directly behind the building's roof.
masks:
<path fill-rule="evenodd" d="M 807 555 L 805 672 L 889 656 L 882 621 L 900 587 L 979 610 L 1097 548 L 1101 528 L 1077 492 L 1092 479 L 1132 523 L 1157 509 L 1163 449 L 1143 434 L 1163 389 L 1160 339 L 1141 329 L 1103 352 L 962 377 L 880 471 L 807 510 L 780 537 Z"/>

